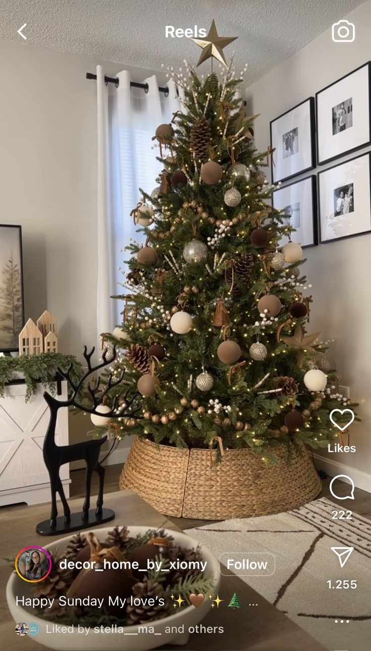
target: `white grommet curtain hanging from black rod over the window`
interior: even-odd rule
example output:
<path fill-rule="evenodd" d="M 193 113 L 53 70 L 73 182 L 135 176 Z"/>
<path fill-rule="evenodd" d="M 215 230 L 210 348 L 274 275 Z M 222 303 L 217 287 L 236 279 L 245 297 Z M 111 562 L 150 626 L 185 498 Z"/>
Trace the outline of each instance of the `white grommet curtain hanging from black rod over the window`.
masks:
<path fill-rule="evenodd" d="M 156 186 L 161 165 L 151 138 L 181 109 L 177 94 L 183 96 L 172 80 L 168 96 L 159 92 L 155 75 L 143 82 L 148 92 L 130 87 L 127 70 L 117 77 L 117 88 L 106 85 L 105 72 L 97 66 L 97 337 L 122 322 L 121 301 L 110 296 L 125 294 L 118 283 L 129 254 L 121 249 L 130 238 L 140 242 L 130 212 L 140 200 L 138 188 L 150 194 Z"/>

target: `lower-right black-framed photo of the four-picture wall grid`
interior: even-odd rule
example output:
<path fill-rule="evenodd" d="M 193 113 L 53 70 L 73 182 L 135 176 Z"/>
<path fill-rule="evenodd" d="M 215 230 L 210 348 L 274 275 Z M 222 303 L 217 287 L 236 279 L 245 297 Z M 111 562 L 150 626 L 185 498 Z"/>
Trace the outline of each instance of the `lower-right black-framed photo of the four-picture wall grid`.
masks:
<path fill-rule="evenodd" d="M 318 173 L 320 242 L 371 232 L 370 156 L 361 154 Z"/>

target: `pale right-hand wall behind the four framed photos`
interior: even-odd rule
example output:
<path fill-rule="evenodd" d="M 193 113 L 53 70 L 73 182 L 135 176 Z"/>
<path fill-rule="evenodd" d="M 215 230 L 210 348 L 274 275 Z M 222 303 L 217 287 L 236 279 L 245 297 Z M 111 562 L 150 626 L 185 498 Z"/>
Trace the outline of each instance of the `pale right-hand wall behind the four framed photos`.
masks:
<path fill-rule="evenodd" d="M 259 150 L 266 150 L 269 143 L 270 120 L 309 96 L 314 96 L 316 91 L 371 58 L 371 2 L 357 8 L 346 18 L 355 23 L 353 43 L 334 43 L 331 30 L 327 30 L 246 90 L 250 115 L 261 113 L 255 122 Z M 355 154 L 342 160 L 352 156 Z M 322 165 L 320 169 L 333 164 Z M 307 175 L 309 173 L 304 176 Z M 308 258 L 305 273 L 308 282 L 313 283 L 311 331 L 322 330 L 323 339 L 335 338 L 329 359 L 333 363 L 336 361 L 337 370 L 343 378 L 340 383 L 350 386 L 352 398 L 361 403 L 358 411 L 362 418 L 361 424 L 354 423 L 351 427 L 352 443 L 356 445 L 357 453 L 320 453 L 326 457 L 326 462 L 320 460 L 318 467 L 325 467 L 330 475 L 336 475 L 348 466 L 346 469 L 357 486 L 371 492 L 371 446 L 368 436 L 371 428 L 371 234 L 305 249 L 305 256 Z"/>

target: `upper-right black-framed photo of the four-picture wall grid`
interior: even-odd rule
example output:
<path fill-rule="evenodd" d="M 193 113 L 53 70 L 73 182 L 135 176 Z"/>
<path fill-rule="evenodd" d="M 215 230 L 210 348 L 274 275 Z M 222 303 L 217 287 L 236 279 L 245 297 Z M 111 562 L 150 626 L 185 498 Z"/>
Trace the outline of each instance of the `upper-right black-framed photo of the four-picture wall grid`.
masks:
<path fill-rule="evenodd" d="M 370 144 L 370 62 L 316 93 L 318 165 Z"/>

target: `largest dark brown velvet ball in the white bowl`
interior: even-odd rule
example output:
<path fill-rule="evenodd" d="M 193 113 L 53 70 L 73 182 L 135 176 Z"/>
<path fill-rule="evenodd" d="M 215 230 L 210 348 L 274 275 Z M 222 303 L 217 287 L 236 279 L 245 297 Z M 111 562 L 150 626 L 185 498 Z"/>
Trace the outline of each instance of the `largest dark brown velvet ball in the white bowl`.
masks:
<path fill-rule="evenodd" d="M 118 605 L 112 605 L 112 603 L 109 603 L 109 596 L 114 595 L 115 597 L 118 596 L 121 599 L 125 599 L 131 595 L 131 590 L 135 583 L 136 580 L 133 574 L 128 570 L 107 569 L 103 570 L 103 572 L 88 570 L 81 577 L 81 582 L 77 585 L 73 596 L 80 597 L 81 599 L 85 597 L 103 598 L 105 608 L 110 615 L 120 617 L 123 614 L 120 600 L 118 600 Z"/>

